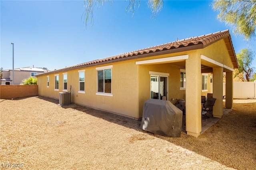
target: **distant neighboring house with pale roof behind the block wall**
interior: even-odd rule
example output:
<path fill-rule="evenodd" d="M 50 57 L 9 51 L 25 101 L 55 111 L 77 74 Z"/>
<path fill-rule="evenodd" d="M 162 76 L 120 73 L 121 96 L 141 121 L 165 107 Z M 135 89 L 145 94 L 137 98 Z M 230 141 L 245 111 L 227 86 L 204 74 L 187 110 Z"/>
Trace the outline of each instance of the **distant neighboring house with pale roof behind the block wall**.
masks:
<path fill-rule="evenodd" d="M 37 67 L 15 68 L 13 70 L 2 70 L 0 74 L 0 85 L 18 85 L 22 80 L 34 77 L 36 74 L 47 72 L 47 70 Z M 14 78 L 13 78 L 14 75 Z"/>

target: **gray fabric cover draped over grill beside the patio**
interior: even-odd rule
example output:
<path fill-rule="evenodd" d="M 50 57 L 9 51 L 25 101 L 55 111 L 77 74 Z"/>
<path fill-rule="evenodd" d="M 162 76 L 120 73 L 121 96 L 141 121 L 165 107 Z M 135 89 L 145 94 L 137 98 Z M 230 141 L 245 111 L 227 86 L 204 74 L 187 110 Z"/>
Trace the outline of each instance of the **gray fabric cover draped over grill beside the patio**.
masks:
<path fill-rule="evenodd" d="M 141 129 L 168 137 L 180 137 L 182 111 L 170 101 L 148 99 L 144 103 Z"/>

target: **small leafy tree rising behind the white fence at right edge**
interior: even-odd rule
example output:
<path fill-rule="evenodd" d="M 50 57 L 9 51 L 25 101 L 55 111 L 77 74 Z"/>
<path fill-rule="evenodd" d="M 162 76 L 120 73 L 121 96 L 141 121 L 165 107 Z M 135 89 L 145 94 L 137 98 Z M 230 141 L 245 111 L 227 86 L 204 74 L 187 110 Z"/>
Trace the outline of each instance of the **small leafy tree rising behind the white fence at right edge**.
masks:
<path fill-rule="evenodd" d="M 252 77 L 252 74 L 254 74 L 254 67 L 252 67 L 252 61 L 254 59 L 254 53 L 250 49 L 242 49 L 241 53 L 238 53 L 236 55 L 237 61 L 238 61 L 238 73 L 235 74 L 235 77 L 243 73 L 244 78 L 247 82 L 250 81 L 250 78 Z"/>

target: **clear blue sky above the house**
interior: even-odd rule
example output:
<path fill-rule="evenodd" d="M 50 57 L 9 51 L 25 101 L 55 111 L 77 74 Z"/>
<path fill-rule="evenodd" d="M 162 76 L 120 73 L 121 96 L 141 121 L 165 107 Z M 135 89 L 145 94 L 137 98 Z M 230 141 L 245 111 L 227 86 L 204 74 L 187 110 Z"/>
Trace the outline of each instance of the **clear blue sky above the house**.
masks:
<path fill-rule="evenodd" d="M 60 69 L 176 39 L 196 37 L 230 29 L 236 53 L 251 48 L 255 39 L 244 41 L 230 27 L 217 20 L 212 1 L 164 1 L 155 19 L 146 1 L 140 1 L 134 15 L 126 13 L 128 1 L 114 0 L 94 8 L 94 24 L 86 27 L 83 0 L 0 1 L 0 67 L 27 66 Z M 253 66 L 256 66 L 254 59 Z"/>

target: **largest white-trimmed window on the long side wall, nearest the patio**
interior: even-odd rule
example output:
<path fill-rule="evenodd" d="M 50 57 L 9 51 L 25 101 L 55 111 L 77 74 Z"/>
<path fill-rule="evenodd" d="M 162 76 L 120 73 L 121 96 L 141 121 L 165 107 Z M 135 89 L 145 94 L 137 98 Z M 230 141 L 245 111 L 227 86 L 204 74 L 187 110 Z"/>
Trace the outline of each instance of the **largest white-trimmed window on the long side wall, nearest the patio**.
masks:
<path fill-rule="evenodd" d="M 112 67 L 101 66 L 96 67 L 97 70 L 97 95 L 113 96 L 112 95 Z"/>

